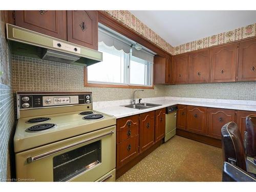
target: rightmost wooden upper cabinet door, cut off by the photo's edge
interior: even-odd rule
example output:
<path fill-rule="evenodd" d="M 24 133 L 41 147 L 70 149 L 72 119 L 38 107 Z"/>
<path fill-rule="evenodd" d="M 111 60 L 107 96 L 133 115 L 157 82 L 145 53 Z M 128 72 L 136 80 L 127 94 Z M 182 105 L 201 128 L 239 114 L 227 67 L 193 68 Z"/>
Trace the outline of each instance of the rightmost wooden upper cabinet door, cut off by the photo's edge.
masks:
<path fill-rule="evenodd" d="M 238 81 L 256 80 L 256 38 L 239 44 Z"/>

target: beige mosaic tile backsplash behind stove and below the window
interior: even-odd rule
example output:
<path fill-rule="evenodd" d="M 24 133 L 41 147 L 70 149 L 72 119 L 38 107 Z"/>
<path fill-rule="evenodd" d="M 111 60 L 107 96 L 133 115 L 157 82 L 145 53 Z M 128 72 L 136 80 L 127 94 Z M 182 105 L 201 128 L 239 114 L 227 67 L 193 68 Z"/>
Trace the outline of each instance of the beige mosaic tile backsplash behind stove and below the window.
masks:
<path fill-rule="evenodd" d="M 83 67 L 12 56 L 14 91 L 92 91 L 93 101 L 131 99 L 134 90 L 124 88 L 91 88 L 83 86 Z M 165 88 L 155 86 L 154 90 L 136 93 L 137 97 L 163 96 Z"/>

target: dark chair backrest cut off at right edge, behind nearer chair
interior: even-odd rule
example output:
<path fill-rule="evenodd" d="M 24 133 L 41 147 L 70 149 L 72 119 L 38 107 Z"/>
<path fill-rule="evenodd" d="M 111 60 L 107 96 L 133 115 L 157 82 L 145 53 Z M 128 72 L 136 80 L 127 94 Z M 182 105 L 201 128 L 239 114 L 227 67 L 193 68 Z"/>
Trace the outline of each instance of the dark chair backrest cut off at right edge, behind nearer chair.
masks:
<path fill-rule="evenodd" d="M 246 117 L 246 154 L 256 158 L 256 117 Z"/>

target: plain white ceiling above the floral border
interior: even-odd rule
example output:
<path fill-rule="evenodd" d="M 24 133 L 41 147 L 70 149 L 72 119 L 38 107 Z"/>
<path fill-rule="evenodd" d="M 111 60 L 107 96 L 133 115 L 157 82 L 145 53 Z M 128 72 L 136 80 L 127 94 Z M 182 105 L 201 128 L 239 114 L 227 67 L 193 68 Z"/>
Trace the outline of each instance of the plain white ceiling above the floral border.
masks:
<path fill-rule="evenodd" d="M 172 46 L 256 23 L 256 11 L 130 11 Z"/>

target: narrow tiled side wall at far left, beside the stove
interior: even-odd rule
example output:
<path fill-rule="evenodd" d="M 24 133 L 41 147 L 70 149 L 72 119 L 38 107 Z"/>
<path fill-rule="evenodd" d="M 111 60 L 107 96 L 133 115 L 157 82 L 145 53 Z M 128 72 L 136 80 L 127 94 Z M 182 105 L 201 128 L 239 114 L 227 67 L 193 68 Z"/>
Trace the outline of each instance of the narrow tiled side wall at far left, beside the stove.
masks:
<path fill-rule="evenodd" d="M 6 13 L 0 11 L 0 181 L 6 181 L 11 177 L 10 154 L 13 151 L 14 131 L 11 55 L 5 38 L 6 20 Z"/>

